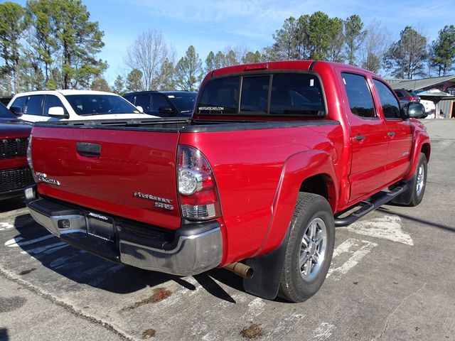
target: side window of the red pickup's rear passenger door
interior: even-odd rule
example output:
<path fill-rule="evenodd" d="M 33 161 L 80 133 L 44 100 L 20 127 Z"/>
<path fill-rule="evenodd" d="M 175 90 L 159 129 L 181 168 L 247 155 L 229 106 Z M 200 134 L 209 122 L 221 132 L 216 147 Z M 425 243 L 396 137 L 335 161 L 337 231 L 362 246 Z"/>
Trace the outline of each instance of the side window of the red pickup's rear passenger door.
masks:
<path fill-rule="evenodd" d="M 365 119 L 375 118 L 375 105 L 367 79 L 362 75 L 342 72 L 344 87 L 348 96 L 350 112 Z"/>

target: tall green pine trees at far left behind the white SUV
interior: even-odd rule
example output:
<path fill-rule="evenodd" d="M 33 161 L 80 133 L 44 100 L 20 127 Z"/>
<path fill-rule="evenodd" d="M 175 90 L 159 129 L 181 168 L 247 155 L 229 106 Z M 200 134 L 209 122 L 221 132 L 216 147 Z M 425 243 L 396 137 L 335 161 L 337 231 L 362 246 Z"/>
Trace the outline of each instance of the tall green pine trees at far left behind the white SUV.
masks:
<path fill-rule="evenodd" d="M 97 59 L 103 31 L 80 0 L 0 4 L 3 92 L 88 88 L 107 69 Z"/>

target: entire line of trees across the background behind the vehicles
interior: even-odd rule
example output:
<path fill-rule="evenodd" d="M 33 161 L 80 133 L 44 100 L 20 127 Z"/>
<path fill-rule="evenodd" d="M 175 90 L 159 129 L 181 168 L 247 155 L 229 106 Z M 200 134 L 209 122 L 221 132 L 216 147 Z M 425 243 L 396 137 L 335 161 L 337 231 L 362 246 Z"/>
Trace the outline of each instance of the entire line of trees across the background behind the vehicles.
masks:
<path fill-rule="evenodd" d="M 200 58 L 193 45 L 185 55 L 159 31 L 140 33 L 124 56 L 127 72 L 110 86 L 106 61 L 97 58 L 104 32 L 81 0 L 28 0 L 0 4 L 0 92 L 92 89 L 122 94 L 139 90 L 197 90 L 219 67 L 273 60 L 330 60 L 402 79 L 447 75 L 455 64 L 455 26 L 444 26 L 431 43 L 405 26 L 396 41 L 378 21 L 330 17 L 322 11 L 287 18 L 260 51 L 226 46 Z"/>

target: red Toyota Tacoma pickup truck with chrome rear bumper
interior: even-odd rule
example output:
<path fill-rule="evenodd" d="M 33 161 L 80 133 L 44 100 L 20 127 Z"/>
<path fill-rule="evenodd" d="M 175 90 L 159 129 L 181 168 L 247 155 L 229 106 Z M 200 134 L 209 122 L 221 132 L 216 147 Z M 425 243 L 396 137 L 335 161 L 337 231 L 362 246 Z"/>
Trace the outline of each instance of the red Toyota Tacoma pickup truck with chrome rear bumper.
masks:
<path fill-rule="evenodd" d="M 203 80 L 192 119 L 35 124 L 26 201 L 105 259 L 177 275 L 226 267 L 249 293 L 304 301 L 336 226 L 422 200 L 422 114 L 349 65 L 225 67 Z"/>

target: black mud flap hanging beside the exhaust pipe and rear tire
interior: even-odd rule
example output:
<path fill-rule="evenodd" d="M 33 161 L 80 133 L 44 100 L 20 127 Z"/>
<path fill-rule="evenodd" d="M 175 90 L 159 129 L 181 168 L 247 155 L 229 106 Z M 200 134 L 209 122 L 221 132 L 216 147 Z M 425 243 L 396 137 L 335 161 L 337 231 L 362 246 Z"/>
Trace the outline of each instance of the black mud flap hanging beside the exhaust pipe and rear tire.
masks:
<path fill-rule="evenodd" d="M 247 293 L 267 300 L 277 297 L 288 239 L 289 229 L 277 249 L 269 254 L 245 260 L 245 264 L 255 271 L 253 278 L 243 280 L 243 288 Z"/>

